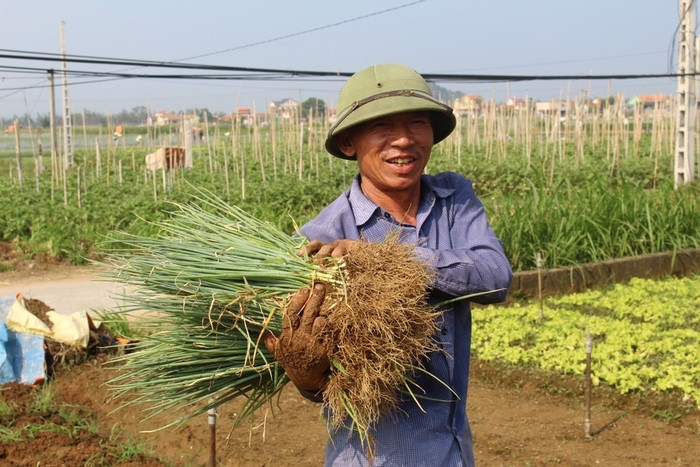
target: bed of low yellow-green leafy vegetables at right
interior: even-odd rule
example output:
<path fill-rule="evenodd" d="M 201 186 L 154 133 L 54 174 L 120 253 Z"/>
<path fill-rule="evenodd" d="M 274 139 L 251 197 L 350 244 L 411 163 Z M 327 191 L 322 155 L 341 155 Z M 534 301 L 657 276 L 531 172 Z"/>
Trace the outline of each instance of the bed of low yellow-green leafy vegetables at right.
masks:
<path fill-rule="evenodd" d="M 608 289 L 474 311 L 480 360 L 583 375 L 629 392 L 668 392 L 700 406 L 700 276 L 632 279 Z"/>

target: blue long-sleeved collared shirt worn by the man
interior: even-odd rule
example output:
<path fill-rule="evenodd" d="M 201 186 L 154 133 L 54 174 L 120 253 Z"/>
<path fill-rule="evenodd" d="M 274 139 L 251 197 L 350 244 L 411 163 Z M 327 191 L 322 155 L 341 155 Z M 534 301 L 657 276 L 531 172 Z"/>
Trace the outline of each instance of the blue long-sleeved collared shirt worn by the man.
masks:
<path fill-rule="evenodd" d="M 405 242 L 436 271 L 431 303 L 451 297 L 499 290 L 473 298 L 479 303 L 503 301 L 513 276 L 500 240 L 488 224 L 471 182 L 444 172 L 423 175 L 421 201 L 415 226 L 398 222 L 370 201 L 353 184 L 300 232 L 309 240 L 329 243 L 338 239 L 384 240 L 397 228 Z M 419 374 L 416 383 L 426 398 L 406 398 L 393 416 L 380 420 L 372 435 L 372 465 L 472 466 L 471 430 L 466 400 L 471 345 L 471 310 L 459 301 L 444 306 L 437 335 L 440 350 L 432 352 L 426 370 L 444 381 Z M 326 465 L 369 465 L 357 435 L 333 432 L 326 448 Z"/>

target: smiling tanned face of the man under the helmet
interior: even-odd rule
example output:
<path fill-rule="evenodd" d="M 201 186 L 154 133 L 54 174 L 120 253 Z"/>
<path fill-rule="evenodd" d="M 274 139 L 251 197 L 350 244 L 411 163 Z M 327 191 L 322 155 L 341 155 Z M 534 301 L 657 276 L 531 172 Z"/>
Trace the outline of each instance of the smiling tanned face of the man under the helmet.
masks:
<path fill-rule="evenodd" d="M 420 176 L 433 147 L 433 127 L 427 112 L 389 115 L 345 131 L 338 146 L 357 158 L 365 193 L 410 192 L 420 190 Z"/>

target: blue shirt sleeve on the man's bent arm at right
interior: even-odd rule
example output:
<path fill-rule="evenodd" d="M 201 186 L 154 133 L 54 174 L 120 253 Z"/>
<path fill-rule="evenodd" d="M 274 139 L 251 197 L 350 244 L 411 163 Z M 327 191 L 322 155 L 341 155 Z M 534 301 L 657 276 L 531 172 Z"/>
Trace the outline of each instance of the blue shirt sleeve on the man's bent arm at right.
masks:
<path fill-rule="evenodd" d="M 477 303 L 505 300 L 513 272 L 471 182 L 465 179 L 452 197 L 440 202 L 445 203 L 447 225 L 432 235 L 434 241 L 428 238 L 428 246 L 416 247 L 435 269 L 433 287 L 454 297 L 493 291 L 470 299 Z"/>

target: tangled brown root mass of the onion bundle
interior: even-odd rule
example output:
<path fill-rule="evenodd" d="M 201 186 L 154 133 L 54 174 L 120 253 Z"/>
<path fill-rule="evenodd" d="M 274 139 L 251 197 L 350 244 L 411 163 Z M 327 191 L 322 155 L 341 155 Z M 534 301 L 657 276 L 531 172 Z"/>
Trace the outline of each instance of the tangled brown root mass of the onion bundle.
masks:
<path fill-rule="evenodd" d="M 433 273 L 413 245 L 394 236 L 359 243 L 344 261 L 346 290 L 324 302 L 332 307 L 327 329 L 336 343 L 324 394 L 331 425 L 352 423 L 363 438 L 396 407 L 397 391 L 435 347 L 436 310 L 428 304 Z"/>

